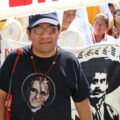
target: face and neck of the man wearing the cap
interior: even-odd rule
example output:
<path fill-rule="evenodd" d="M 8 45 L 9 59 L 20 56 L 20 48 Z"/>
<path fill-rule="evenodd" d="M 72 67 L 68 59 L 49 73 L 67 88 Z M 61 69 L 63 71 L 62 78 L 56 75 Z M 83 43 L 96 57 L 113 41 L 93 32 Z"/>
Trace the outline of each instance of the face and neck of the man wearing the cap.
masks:
<path fill-rule="evenodd" d="M 33 44 L 33 53 L 37 56 L 46 57 L 55 53 L 59 30 L 57 26 L 41 23 L 28 31 L 28 37 Z"/>

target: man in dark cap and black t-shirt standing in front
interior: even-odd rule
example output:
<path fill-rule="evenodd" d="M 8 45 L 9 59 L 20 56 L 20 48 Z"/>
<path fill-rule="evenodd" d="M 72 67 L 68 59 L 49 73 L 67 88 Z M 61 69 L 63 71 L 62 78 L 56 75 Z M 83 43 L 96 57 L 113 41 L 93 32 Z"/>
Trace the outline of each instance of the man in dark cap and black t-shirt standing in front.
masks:
<path fill-rule="evenodd" d="M 12 84 L 12 117 L 16 120 L 70 120 L 72 96 L 81 120 L 92 120 L 90 89 L 83 76 L 78 59 L 57 46 L 60 24 L 56 13 L 29 17 L 27 29 L 32 45 L 22 48 L 19 60 L 16 50 L 9 54 L 0 69 L 0 120 L 5 119 L 4 102 Z M 17 51 L 17 53 L 20 53 Z M 14 74 L 11 71 L 14 71 Z M 12 78 L 11 78 L 11 77 Z M 41 77 L 49 81 L 50 91 L 46 104 L 33 114 L 26 101 L 31 79 Z M 11 85 L 10 84 L 10 85 Z M 38 92 L 36 91 L 36 94 Z M 85 114 L 84 114 L 85 113 Z"/>

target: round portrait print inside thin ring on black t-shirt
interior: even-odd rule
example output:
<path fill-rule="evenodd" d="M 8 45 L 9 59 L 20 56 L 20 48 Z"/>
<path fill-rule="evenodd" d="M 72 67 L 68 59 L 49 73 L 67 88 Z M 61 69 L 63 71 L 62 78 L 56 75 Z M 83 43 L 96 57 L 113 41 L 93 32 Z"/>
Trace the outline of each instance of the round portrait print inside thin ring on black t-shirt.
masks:
<path fill-rule="evenodd" d="M 22 85 L 22 94 L 32 112 L 50 105 L 55 97 L 55 86 L 48 76 L 32 74 Z"/>

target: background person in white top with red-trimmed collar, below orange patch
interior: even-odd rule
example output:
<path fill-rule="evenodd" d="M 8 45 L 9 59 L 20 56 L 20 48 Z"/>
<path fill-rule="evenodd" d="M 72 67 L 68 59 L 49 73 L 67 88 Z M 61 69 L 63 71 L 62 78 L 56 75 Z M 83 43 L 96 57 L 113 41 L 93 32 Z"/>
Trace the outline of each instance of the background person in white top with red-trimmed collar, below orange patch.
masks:
<path fill-rule="evenodd" d="M 107 30 L 109 27 L 109 18 L 104 13 L 99 13 L 95 16 L 93 23 L 93 31 L 92 31 L 92 40 L 93 44 L 100 42 L 111 42 L 114 41 L 114 38 L 107 34 Z"/>

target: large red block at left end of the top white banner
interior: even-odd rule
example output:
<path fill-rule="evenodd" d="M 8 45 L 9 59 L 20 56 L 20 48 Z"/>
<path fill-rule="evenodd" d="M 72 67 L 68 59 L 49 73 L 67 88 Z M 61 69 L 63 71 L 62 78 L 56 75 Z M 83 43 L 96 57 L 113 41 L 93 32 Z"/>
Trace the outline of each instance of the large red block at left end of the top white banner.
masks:
<path fill-rule="evenodd" d="M 32 4 L 32 0 L 9 0 L 10 7 L 24 6 Z"/>

